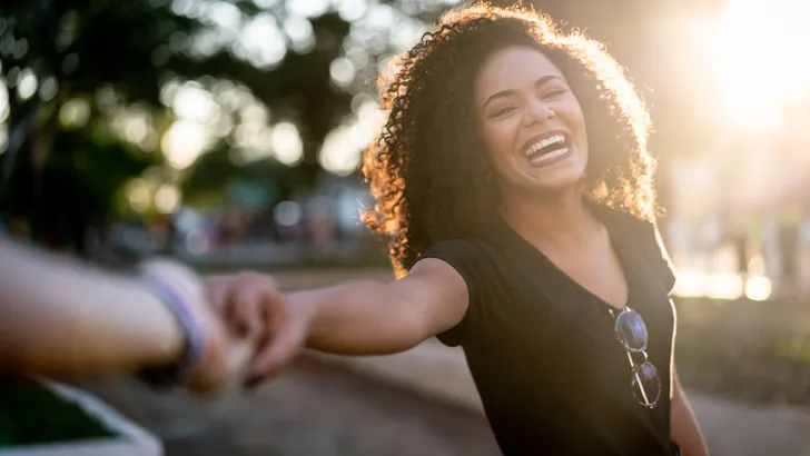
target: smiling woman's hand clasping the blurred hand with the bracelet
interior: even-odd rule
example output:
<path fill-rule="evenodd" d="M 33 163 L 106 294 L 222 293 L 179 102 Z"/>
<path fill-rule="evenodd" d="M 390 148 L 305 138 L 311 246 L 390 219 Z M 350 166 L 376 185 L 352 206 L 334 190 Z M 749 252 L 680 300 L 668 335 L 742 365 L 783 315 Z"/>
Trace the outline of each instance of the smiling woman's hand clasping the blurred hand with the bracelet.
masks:
<path fill-rule="evenodd" d="M 256 344 L 245 386 L 278 375 L 306 343 L 310 316 L 290 306 L 276 280 L 258 272 L 206 278 L 208 300 L 229 328 Z"/>

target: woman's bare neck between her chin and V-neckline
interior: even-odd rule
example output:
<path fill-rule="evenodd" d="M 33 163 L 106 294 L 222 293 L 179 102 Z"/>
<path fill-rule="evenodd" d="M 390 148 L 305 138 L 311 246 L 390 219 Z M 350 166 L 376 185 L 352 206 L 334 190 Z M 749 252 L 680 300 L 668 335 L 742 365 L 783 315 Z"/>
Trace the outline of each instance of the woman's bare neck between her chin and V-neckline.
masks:
<path fill-rule="evenodd" d="M 584 246 L 596 226 L 580 189 L 507 197 L 501 211 L 512 229 L 537 246 Z"/>

